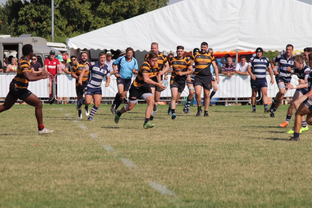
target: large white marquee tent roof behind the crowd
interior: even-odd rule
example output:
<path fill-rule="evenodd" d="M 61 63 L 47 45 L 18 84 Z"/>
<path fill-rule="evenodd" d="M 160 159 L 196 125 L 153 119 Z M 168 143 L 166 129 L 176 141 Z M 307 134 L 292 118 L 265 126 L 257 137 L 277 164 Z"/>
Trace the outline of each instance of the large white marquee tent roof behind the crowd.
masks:
<path fill-rule="evenodd" d="M 297 0 L 183 0 L 66 40 L 73 49 L 281 51 L 311 46 L 312 5 Z"/>

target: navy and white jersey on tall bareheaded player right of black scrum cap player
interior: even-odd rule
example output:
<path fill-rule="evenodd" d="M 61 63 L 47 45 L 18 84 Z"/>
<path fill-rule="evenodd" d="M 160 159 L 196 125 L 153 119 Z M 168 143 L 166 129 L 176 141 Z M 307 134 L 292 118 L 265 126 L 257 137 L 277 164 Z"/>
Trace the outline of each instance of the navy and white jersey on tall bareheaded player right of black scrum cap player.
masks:
<path fill-rule="evenodd" d="M 286 81 L 290 82 L 291 80 L 291 73 L 287 71 L 287 67 L 290 68 L 294 67 L 294 56 L 291 56 L 288 60 L 284 54 L 276 56 L 273 61 L 279 63 L 278 75 L 283 77 Z"/>

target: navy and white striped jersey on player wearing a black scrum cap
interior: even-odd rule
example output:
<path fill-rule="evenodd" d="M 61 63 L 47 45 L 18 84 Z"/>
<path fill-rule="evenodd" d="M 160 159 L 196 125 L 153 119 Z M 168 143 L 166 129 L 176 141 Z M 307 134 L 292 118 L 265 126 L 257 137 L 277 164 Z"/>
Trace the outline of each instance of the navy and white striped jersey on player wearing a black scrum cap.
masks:
<path fill-rule="evenodd" d="M 266 77 L 266 67 L 270 67 L 270 61 L 266 57 L 251 57 L 248 65 L 251 66 L 251 72 L 256 78 L 261 79 Z"/>

